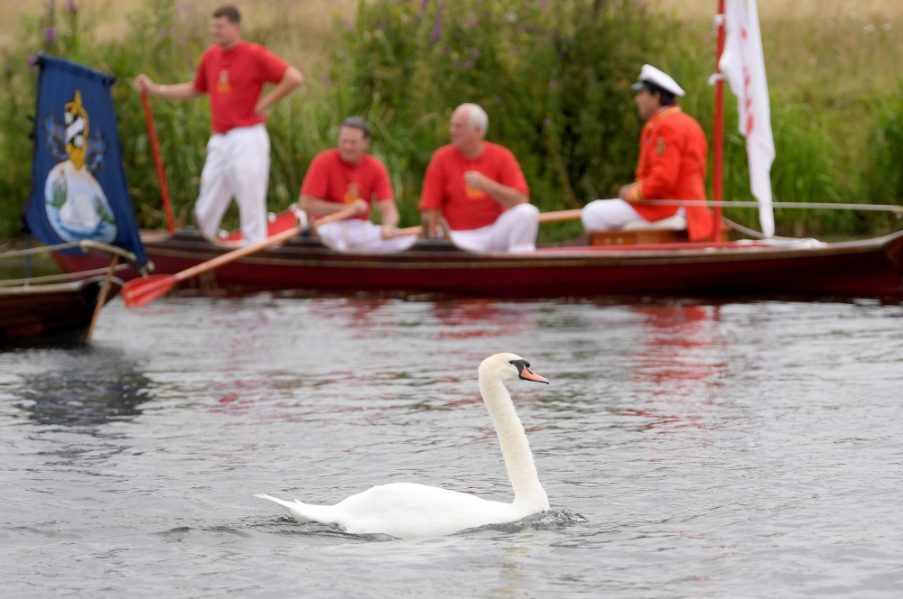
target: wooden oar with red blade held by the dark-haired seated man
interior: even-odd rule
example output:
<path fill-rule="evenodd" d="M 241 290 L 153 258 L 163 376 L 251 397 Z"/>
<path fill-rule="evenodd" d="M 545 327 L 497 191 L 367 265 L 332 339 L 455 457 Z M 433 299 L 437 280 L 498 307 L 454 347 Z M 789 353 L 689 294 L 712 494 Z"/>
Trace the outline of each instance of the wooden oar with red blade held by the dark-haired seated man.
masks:
<path fill-rule="evenodd" d="M 353 217 L 356 213 L 357 209 L 355 207 L 343 208 L 339 212 L 333 212 L 326 217 L 318 218 L 314 221 L 314 226 L 322 226 L 336 220 Z M 122 294 L 122 299 L 126 302 L 126 308 L 138 308 L 144 306 L 162 296 L 166 291 L 171 290 L 172 286 L 179 281 L 191 279 L 191 277 L 196 277 L 201 272 L 212 271 L 223 264 L 241 260 L 252 253 L 257 253 L 268 247 L 282 244 L 292 237 L 301 235 L 301 233 L 302 229 L 300 226 L 293 226 L 291 229 L 283 231 L 282 233 L 277 233 L 272 237 L 267 237 L 265 240 L 259 241 L 256 244 L 246 245 L 232 252 L 224 253 L 213 260 L 197 264 L 182 272 L 176 272 L 175 274 L 154 274 L 146 279 L 133 279 L 123 285 L 120 292 Z"/>

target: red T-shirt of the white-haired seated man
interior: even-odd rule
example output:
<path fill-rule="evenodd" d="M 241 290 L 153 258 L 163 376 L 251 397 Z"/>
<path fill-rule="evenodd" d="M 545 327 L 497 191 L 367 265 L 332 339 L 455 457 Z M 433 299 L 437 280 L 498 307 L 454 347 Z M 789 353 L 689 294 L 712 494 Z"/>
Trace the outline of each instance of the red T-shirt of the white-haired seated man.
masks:
<path fill-rule="evenodd" d="M 489 226 L 507 209 L 486 192 L 468 187 L 464 182 L 468 170 L 477 170 L 497 183 L 530 195 L 524 173 L 507 148 L 483 142 L 483 153 L 471 160 L 453 145 L 443 146 L 433 153 L 426 168 L 420 209 L 442 210 L 452 231 Z"/>

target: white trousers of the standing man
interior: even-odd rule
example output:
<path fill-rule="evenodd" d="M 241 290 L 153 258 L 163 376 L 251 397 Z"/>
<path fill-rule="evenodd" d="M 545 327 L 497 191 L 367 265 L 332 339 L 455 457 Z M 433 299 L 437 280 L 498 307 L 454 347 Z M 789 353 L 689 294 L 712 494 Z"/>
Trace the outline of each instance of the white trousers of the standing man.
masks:
<path fill-rule="evenodd" d="M 207 161 L 200 172 L 200 195 L 194 205 L 200 232 L 216 239 L 219 223 L 235 198 L 244 243 L 264 240 L 269 177 L 270 136 L 263 123 L 210 137 Z"/>

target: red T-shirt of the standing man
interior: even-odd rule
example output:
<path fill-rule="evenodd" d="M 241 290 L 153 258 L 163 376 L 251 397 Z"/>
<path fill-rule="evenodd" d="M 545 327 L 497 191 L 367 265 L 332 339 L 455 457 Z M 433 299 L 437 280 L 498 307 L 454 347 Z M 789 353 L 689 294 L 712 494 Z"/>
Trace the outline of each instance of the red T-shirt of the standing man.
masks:
<path fill-rule="evenodd" d="M 200 57 L 194 88 L 210 97 L 210 128 L 218 134 L 236 127 L 263 123 L 254 108 L 265 83 L 278 83 L 288 63 L 250 41 L 239 41 L 231 50 L 210 46 Z"/>

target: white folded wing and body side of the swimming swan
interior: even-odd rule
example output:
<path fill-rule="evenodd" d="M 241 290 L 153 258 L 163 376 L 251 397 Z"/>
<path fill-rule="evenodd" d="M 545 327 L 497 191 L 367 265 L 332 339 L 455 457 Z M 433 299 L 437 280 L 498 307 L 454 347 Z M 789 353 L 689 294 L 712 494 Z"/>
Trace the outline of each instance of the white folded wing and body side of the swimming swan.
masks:
<path fill-rule="evenodd" d="M 408 483 L 375 486 L 337 503 L 335 510 L 349 532 L 399 539 L 437 537 L 523 517 L 509 503 Z"/>

